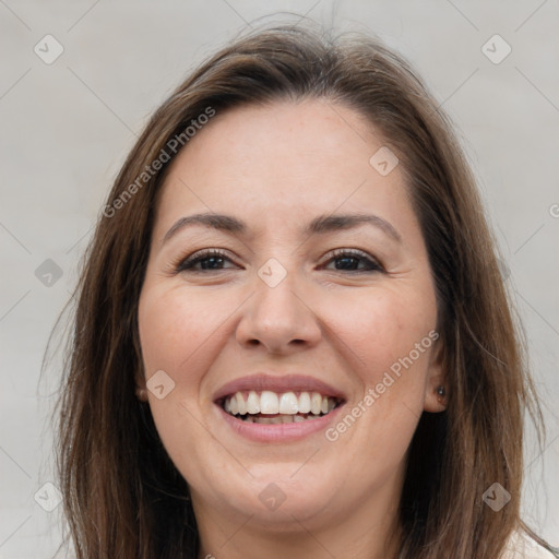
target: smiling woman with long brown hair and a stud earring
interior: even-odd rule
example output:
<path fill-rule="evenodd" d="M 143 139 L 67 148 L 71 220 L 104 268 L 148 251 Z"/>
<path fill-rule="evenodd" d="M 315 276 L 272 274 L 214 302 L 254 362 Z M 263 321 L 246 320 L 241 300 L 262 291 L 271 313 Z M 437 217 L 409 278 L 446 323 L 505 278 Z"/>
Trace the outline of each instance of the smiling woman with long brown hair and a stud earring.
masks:
<path fill-rule="evenodd" d="M 87 253 L 60 403 L 78 557 L 552 557 L 520 520 L 538 408 L 497 262 L 397 55 L 296 27 L 224 48 Z"/>

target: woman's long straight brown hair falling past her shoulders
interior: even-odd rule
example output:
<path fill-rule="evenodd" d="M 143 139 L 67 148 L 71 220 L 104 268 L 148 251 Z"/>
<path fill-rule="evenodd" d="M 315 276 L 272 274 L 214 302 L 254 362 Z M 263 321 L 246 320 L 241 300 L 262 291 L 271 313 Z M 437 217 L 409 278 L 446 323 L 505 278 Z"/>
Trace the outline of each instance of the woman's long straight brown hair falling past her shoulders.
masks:
<path fill-rule="evenodd" d="M 281 26 L 238 38 L 169 96 L 99 215 L 76 288 L 59 402 L 58 467 L 79 559 L 197 557 L 188 485 L 134 393 L 143 374 L 138 302 L 156 197 L 179 151 L 169 142 L 209 107 L 218 118 L 233 107 L 302 98 L 353 108 L 381 130 L 404 168 L 436 282 L 448 409 L 424 413 L 412 441 L 401 557 L 495 559 L 523 526 L 523 415 L 537 419 L 539 408 L 451 123 L 408 63 L 378 40 Z M 188 148 L 188 134 L 182 140 Z M 154 170 L 156 159 L 163 163 Z M 495 483 L 511 496 L 499 512 L 483 501 Z"/>

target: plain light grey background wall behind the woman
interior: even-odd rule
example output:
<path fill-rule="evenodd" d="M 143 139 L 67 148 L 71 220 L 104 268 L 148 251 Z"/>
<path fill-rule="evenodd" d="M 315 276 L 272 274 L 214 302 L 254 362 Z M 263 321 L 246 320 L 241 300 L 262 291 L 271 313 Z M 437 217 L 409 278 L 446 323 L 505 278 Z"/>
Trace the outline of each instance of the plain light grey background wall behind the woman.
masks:
<path fill-rule="evenodd" d="M 372 31 L 456 123 L 544 399 L 548 436 L 544 452 L 533 437 L 526 444 L 524 515 L 559 546 L 557 0 L 0 0 L 0 559 L 51 558 L 60 540 L 61 507 L 45 510 L 56 488 L 44 486 L 60 357 L 43 376 L 40 365 L 116 173 L 197 62 L 258 17 L 297 20 L 278 11 Z M 63 47 L 50 64 L 34 51 L 56 53 L 47 34 Z M 512 48 L 500 63 L 481 49 L 495 34 Z M 504 52 L 495 39 L 486 48 Z"/>

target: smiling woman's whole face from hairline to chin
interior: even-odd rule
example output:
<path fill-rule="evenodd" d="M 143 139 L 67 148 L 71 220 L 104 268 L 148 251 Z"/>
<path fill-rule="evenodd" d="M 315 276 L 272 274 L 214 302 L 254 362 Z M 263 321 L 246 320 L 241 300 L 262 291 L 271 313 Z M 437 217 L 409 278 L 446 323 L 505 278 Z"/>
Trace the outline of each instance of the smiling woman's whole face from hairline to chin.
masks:
<path fill-rule="evenodd" d="M 442 409 L 433 280 L 382 146 L 349 108 L 278 102 L 217 114 L 174 162 L 139 383 L 197 514 L 319 525 L 394 502 Z"/>

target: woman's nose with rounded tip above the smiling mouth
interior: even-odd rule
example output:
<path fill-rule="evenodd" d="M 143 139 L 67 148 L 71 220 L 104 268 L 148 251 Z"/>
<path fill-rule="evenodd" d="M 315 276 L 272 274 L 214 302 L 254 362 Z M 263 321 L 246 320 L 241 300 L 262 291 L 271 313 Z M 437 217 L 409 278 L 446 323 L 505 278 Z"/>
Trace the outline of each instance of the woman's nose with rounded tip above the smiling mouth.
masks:
<path fill-rule="evenodd" d="M 245 347 L 262 345 L 269 353 L 288 355 L 316 346 L 321 338 L 319 319 L 297 292 L 293 274 L 275 287 L 259 280 L 257 293 L 243 306 L 236 337 Z"/>

